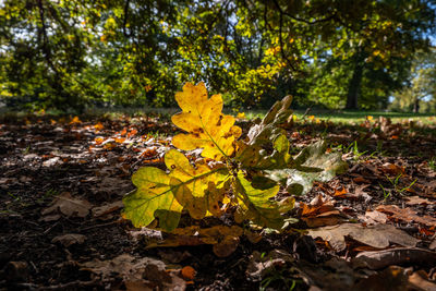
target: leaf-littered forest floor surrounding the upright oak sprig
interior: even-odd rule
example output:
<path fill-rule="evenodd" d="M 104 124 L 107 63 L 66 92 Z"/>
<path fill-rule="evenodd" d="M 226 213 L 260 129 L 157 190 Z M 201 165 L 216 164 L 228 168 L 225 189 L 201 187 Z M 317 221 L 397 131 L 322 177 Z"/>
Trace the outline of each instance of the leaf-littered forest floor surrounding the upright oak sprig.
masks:
<path fill-rule="evenodd" d="M 436 290 L 432 122 L 296 122 L 295 149 L 325 138 L 348 171 L 295 197 L 298 222 L 251 229 L 218 257 L 207 240 L 121 218 L 132 173 L 162 167 L 168 119 L 3 119 L 0 290 Z"/>

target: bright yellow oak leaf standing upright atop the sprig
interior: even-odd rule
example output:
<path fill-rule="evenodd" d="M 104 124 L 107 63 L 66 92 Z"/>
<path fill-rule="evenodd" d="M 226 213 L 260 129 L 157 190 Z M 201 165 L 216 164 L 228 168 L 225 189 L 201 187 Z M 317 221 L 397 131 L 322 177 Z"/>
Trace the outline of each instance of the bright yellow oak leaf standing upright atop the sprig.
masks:
<path fill-rule="evenodd" d="M 207 96 L 205 84 L 186 83 L 183 92 L 175 94 L 175 100 L 183 110 L 171 120 L 187 133 L 172 138 L 172 144 L 184 150 L 203 148 L 202 156 L 223 160 L 234 153 L 234 141 L 242 130 L 233 125 L 234 118 L 222 114 L 221 95 Z"/>

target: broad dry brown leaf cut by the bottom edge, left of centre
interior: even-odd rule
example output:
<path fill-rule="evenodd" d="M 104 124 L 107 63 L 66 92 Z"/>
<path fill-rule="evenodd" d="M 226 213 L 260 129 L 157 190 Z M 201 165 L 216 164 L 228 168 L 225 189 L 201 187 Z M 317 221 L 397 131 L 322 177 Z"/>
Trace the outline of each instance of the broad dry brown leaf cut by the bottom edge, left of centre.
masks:
<path fill-rule="evenodd" d="M 120 276 L 129 286 L 129 290 L 170 291 L 185 290 L 186 287 L 183 279 L 166 271 L 164 262 L 149 257 L 135 258 L 122 254 L 113 259 L 94 259 L 78 265 L 81 270 L 89 270 L 100 276 L 101 280 Z"/>

